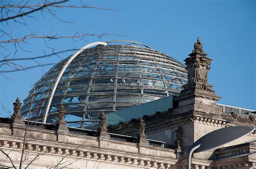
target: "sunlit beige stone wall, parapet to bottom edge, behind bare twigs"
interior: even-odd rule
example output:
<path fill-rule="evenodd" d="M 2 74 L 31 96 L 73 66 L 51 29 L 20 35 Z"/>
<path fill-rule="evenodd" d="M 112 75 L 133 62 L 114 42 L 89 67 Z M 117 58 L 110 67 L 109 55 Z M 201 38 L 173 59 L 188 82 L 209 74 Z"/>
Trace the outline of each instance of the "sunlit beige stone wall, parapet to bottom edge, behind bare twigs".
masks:
<path fill-rule="evenodd" d="M 0 149 L 8 153 L 18 166 L 23 147 L 24 126 L 0 123 Z M 63 167 L 71 168 L 157 168 L 176 167 L 178 159 L 172 149 L 149 144 L 123 142 L 104 137 L 78 135 L 67 131 L 29 128 L 24 150 L 30 157 L 40 154 L 31 168 L 54 167 L 63 160 Z M 1 152 L 0 152 L 1 153 Z M 65 162 L 64 162 L 65 161 Z M 1 153 L 0 163 L 11 166 L 10 160 Z"/>

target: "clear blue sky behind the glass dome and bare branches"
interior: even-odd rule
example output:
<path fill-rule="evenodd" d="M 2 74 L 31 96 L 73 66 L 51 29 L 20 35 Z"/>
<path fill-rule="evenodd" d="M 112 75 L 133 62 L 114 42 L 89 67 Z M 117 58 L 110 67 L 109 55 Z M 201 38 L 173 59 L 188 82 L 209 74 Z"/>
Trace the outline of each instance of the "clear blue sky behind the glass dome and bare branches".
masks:
<path fill-rule="evenodd" d="M 29 29 L 38 35 L 52 32 L 51 34 L 66 36 L 83 31 L 127 36 L 86 37 L 86 41 L 49 41 L 47 44 L 56 51 L 80 48 L 100 40 L 129 39 L 164 52 L 183 64 L 199 36 L 204 51 L 213 59 L 208 82 L 214 85 L 217 95 L 223 97 L 219 103 L 256 110 L 256 1 L 90 1 L 87 5 L 121 11 L 58 9 L 56 13 L 59 18 L 75 23 L 63 23 L 46 14 L 42 17 L 41 13 L 35 14 L 36 19 L 26 18 L 26 22 Z M 9 27 L 1 24 L 2 30 L 10 31 L 10 27 L 14 37 L 31 32 L 21 24 L 10 22 Z M 1 52 L 13 53 L 13 45 L 4 47 Z M 23 48 L 31 52 L 18 50 L 17 58 L 50 52 L 43 40 L 29 40 L 28 44 L 23 44 Z M 61 58 L 70 54 L 72 52 L 65 53 Z M 59 57 L 40 60 L 42 64 L 58 61 Z M 21 64 L 30 65 L 33 62 Z M 0 76 L 0 102 L 12 111 L 15 98 L 23 100 L 28 96 L 31 85 L 41 79 L 50 67 L 5 73 L 9 79 Z M 0 109 L 0 115 L 6 115 L 4 111 Z"/>

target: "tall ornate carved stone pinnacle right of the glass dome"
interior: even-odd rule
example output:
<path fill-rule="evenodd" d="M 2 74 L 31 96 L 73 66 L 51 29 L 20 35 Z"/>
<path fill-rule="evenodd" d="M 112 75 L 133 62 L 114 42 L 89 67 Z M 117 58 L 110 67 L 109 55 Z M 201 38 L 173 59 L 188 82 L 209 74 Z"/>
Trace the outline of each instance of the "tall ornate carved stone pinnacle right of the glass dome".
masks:
<path fill-rule="evenodd" d="M 207 53 L 203 51 L 203 44 L 199 37 L 194 43 L 194 50 L 188 54 L 185 65 L 187 69 L 188 81 L 183 85 L 180 96 L 174 98 L 178 102 L 178 108 L 173 114 L 181 114 L 189 111 L 207 112 L 210 114 L 220 114 L 216 102 L 221 97 L 215 95 L 213 85 L 208 84 L 208 71 L 212 59 L 207 58 Z"/>

